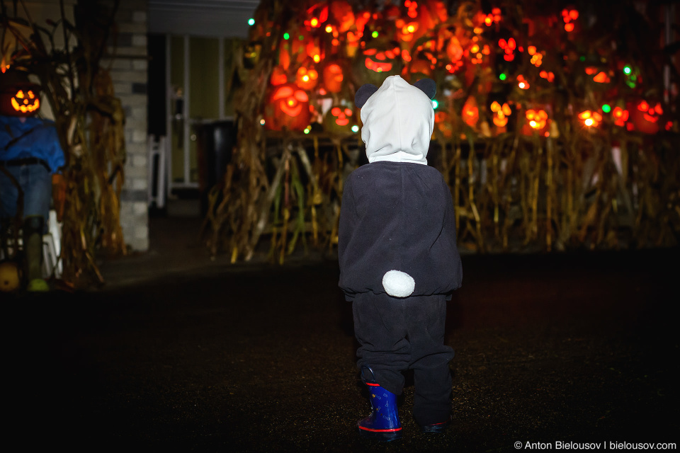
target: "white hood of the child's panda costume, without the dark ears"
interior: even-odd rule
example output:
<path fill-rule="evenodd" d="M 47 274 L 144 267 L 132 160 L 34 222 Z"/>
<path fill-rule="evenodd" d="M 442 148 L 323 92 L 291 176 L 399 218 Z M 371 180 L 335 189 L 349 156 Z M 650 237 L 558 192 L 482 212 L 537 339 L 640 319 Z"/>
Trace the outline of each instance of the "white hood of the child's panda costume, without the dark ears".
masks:
<path fill-rule="evenodd" d="M 427 165 L 434 127 L 430 98 L 400 76 L 382 82 L 361 108 L 361 139 L 368 162 L 391 161 Z"/>

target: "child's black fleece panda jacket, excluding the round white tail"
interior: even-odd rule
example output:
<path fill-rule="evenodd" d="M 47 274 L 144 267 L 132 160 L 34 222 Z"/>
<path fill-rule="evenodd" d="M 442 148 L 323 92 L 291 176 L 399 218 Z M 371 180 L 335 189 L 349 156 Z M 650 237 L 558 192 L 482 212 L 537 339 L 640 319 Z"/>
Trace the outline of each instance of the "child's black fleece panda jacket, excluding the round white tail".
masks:
<path fill-rule="evenodd" d="M 379 161 L 347 178 L 340 211 L 339 286 L 351 301 L 384 293 L 382 276 L 400 270 L 415 280 L 412 296 L 449 294 L 463 267 L 450 190 L 436 168 Z"/>

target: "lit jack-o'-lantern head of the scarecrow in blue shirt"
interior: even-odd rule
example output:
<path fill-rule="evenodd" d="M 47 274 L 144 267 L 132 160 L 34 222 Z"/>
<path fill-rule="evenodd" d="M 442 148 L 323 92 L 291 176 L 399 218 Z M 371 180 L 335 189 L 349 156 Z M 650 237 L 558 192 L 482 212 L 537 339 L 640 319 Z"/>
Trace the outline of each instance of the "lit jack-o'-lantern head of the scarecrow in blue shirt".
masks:
<path fill-rule="evenodd" d="M 11 71 L 2 75 L 0 113 L 7 116 L 31 116 L 40 109 L 40 85 L 28 80 L 28 74 Z"/>

